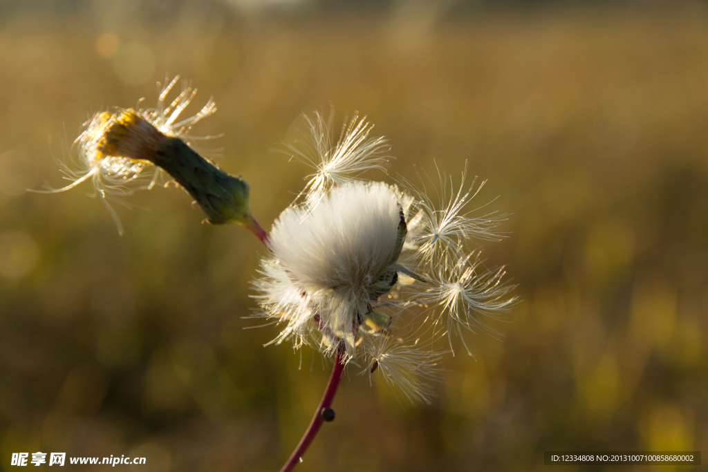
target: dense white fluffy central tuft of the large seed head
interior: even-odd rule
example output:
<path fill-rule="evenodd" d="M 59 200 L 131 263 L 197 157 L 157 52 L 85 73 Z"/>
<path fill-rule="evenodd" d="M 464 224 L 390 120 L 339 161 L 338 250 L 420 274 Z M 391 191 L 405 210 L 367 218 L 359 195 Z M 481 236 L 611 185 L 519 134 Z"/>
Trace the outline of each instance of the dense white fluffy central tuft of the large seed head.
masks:
<path fill-rule="evenodd" d="M 274 260 L 266 263 L 270 272 L 280 273 L 270 273 L 270 280 L 287 277 L 287 284 L 297 287 L 293 292 L 307 298 L 310 315 L 319 315 L 354 355 L 356 317 L 392 287 L 404 237 L 400 225 L 395 188 L 384 183 L 334 188 L 311 212 L 290 207 L 280 214 L 269 237 Z M 267 299 L 277 299 L 275 285 L 258 288 Z M 304 316 L 299 300 L 286 304 L 290 309 L 280 313 L 287 318 Z"/>

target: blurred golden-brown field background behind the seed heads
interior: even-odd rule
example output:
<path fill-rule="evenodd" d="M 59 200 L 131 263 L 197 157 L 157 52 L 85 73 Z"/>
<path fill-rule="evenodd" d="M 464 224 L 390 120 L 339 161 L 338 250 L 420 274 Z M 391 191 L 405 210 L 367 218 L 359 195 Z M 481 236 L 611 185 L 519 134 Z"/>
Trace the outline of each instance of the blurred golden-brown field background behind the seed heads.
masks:
<path fill-rule="evenodd" d="M 0 470 L 17 451 L 278 470 L 319 401 L 329 366 L 244 330 L 264 252 L 247 231 L 200 224 L 173 187 L 116 205 L 122 237 L 89 184 L 24 191 L 65 182 L 52 158 L 91 113 L 153 106 L 175 74 L 193 113 L 215 98 L 194 134 L 224 133 L 217 160 L 267 228 L 308 173 L 271 149 L 329 102 L 391 140 L 391 175 L 468 161 L 476 202 L 511 214 L 485 249 L 522 300 L 505 338 L 469 333 L 430 406 L 350 369 L 299 468 L 708 451 L 704 2 L 3 0 Z"/>

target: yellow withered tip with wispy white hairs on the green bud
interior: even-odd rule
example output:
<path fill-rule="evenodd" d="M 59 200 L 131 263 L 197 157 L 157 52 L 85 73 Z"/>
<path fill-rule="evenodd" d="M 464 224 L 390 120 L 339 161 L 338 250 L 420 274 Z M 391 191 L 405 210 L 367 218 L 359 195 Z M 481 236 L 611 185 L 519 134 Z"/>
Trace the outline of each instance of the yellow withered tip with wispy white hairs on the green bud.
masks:
<path fill-rule="evenodd" d="M 120 197 L 132 195 L 136 190 L 148 190 L 160 180 L 161 170 L 158 166 L 140 154 L 147 149 L 144 144 L 146 139 L 159 140 L 164 137 L 179 137 L 188 144 L 193 144 L 199 138 L 188 134 L 196 122 L 202 120 L 216 111 L 212 99 L 191 117 L 177 121 L 179 115 L 194 98 L 196 89 L 183 87 L 182 92 L 172 100 L 169 105 L 167 96 L 175 86 L 179 76 L 162 88 L 156 108 L 138 109 L 115 108 L 112 111 L 95 113 L 84 123 L 84 130 L 74 140 L 69 149 L 69 157 L 60 162 L 64 178 L 72 183 L 63 188 L 50 188 L 48 190 L 30 190 L 32 192 L 55 193 L 72 189 L 84 182 L 91 180 L 96 195 L 101 197 L 105 207 L 110 212 L 122 234 L 122 226 L 113 207 L 108 200 L 127 205 Z M 158 84 L 159 85 L 159 84 Z M 116 136 L 116 130 L 125 122 L 132 122 L 132 133 Z M 122 129 L 125 130 L 125 127 Z M 130 149 L 138 152 L 130 152 Z"/>

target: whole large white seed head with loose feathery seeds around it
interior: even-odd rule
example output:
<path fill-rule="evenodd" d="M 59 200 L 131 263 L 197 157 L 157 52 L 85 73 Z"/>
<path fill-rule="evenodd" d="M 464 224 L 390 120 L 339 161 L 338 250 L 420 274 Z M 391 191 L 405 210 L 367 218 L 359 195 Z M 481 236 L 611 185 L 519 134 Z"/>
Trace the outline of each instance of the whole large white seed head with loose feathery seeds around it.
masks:
<path fill-rule="evenodd" d="M 254 281 L 261 316 L 284 325 L 273 342 L 324 354 L 343 348 L 348 362 L 379 372 L 408 401 L 428 401 L 425 381 L 438 379 L 447 352 L 434 346 L 440 336 L 486 326 L 480 314 L 494 317 L 515 301 L 503 270 L 484 269 L 479 251 L 467 250 L 471 238 L 494 238 L 497 221 L 465 209 L 472 190 L 434 209 L 422 192 L 347 177 L 351 163 L 355 173 L 382 165 L 372 144 L 382 138 L 362 135 L 370 125 L 355 118 L 329 146 L 328 122 L 316 115 L 308 123 L 316 154 L 301 160 L 316 173 L 273 224 L 271 253 Z"/>

